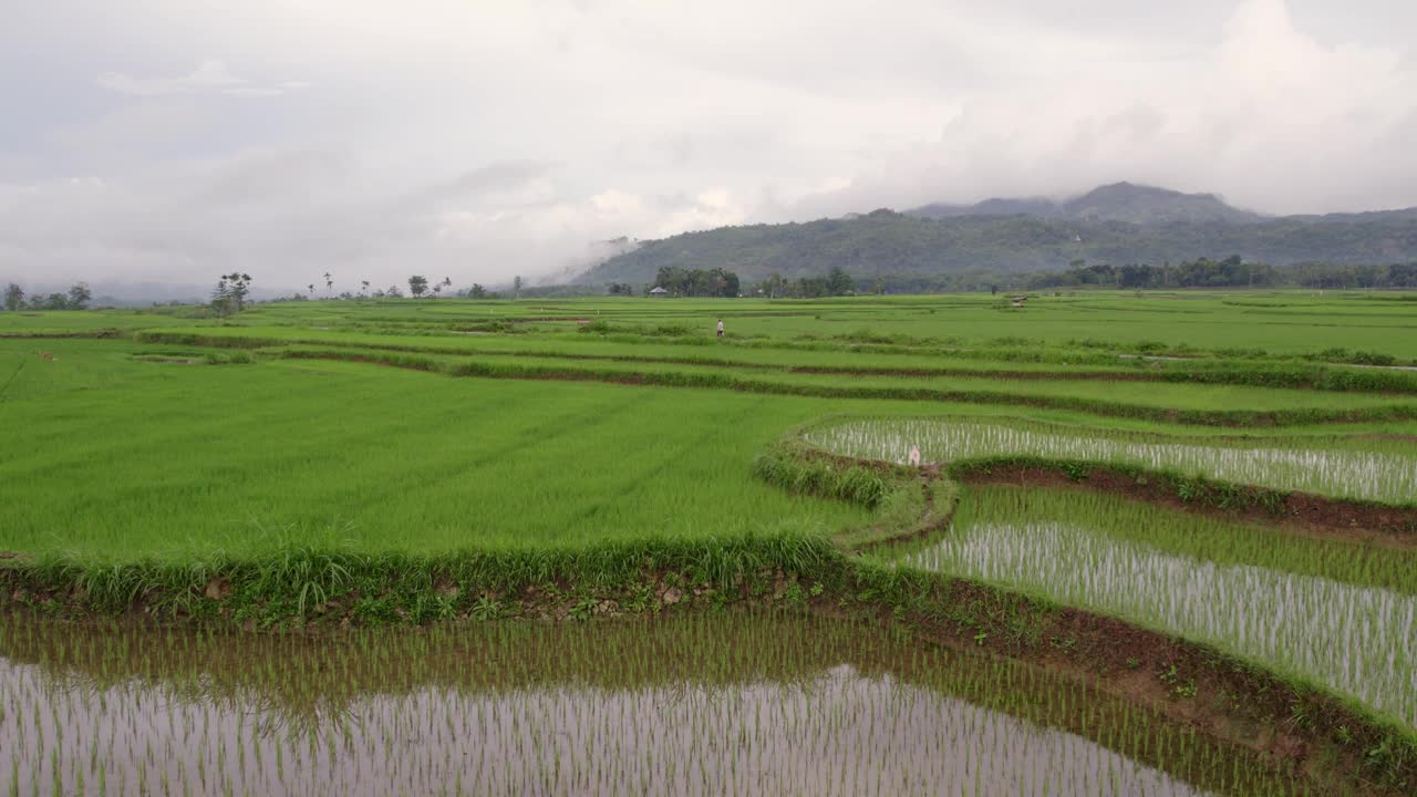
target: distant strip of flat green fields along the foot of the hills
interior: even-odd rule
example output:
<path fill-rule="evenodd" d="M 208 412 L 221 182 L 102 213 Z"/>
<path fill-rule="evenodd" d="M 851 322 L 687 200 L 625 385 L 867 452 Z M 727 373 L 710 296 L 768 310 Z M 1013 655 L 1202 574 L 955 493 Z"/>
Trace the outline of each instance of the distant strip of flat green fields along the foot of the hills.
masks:
<path fill-rule="evenodd" d="M 998 339 L 1110 340 L 1118 346 L 1162 342 L 1195 349 L 1264 349 L 1275 355 L 1316 353 L 1346 347 L 1411 357 L 1404 339 L 1417 335 L 1417 319 L 1399 302 L 1373 301 L 1360 292 L 1081 292 L 1053 296 L 1037 292 L 1022 311 L 998 296 L 862 296 L 825 301 L 724 299 L 526 299 L 521 302 L 364 301 L 258 305 L 241 323 L 363 323 L 436 326 L 492 319 L 537 321 L 534 325 L 574 329 L 574 319 L 622 325 L 682 325 L 711 338 L 724 318 L 730 335 L 791 339 L 870 330 L 877 336 L 951 339 L 985 343 Z M 98 326 L 177 326 L 184 311 L 102 313 L 0 313 L 0 333 L 21 329 Z M 88 318 L 85 318 L 88 316 Z"/>

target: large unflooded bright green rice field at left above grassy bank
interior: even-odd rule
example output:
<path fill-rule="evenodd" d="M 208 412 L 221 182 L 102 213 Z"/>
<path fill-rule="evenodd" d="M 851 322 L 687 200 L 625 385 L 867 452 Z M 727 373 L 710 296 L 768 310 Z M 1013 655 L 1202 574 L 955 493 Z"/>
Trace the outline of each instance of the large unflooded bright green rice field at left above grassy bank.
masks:
<path fill-rule="evenodd" d="M 9 349 L 0 363 L 16 362 Z M 823 401 L 326 362 L 147 363 L 129 355 L 150 346 L 111 342 L 54 350 L 52 363 L 28 357 L 0 404 L 13 550 L 589 545 L 829 533 L 864 516 L 782 495 L 748 469 Z"/>

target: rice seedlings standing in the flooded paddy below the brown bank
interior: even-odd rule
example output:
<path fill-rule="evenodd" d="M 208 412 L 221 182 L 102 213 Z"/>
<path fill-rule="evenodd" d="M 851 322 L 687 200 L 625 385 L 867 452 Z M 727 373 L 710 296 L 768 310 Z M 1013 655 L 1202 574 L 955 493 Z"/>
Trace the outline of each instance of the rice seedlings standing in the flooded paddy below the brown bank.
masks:
<path fill-rule="evenodd" d="M 1010 522 L 1002 515 L 965 508 L 942 540 L 904 563 L 1034 590 L 1213 642 L 1417 728 L 1417 637 L 1411 634 L 1417 597 L 1410 579 L 1400 580 L 1404 591 L 1394 591 L 1367 586 L 1373 573 L 1360 567 L 1345 583 L 1289 572 L 1287 556 L 1258 554 L 1270 562 L 1255 566 L 1246 562 L 1248 553 L 1271 543 L 1257 535 L 1241 535 L 1217 563 L 1151 542 L 1185 536 L 1185 529 L 1166 530 L 1161 518 L 1118 535 L 1093 528 L 1088 513 L 1076 508 L 1057 520 Z M 1389 574 L 1384 580 L 1399 579 Z"/>

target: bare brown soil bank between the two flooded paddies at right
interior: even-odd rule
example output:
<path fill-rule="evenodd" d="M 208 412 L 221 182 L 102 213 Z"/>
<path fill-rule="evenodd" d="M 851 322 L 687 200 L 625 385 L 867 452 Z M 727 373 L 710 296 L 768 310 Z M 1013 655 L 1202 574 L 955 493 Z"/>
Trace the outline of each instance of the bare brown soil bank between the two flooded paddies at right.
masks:
<path fill-rule="evenodd" d="M 1417 509 L 1377 506 L 1335 501 L 1305 492 L 1291 492 L 1278 512 L 1261 506 L 1223 509 L 1182 501 L 1165 484 L 1139 484 L 1135 478 L 1107 469 L 1094 469 L 1081 481 L 1047 468 L 1007 467 L 973 472 L 966 484 L 1003 484 L 1110 492 L 1159 503 L 1179 512 L 1214 518 L 1247 519 L 1278 525 L 1287 530 L 1316 537 L 1342 539 L 1380 547 L 1417 549 Z"/>

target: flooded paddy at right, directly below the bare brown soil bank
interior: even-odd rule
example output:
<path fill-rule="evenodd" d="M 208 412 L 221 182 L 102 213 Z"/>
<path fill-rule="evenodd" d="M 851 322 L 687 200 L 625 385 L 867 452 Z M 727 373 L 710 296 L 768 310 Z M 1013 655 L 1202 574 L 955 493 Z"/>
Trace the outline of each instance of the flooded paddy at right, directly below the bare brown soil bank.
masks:
<path fill-rule="evenodd" d="M 1210 641 L 1417 726 L 1410 552 L 1277 537 L 1087 494 L 989 488 L 968 492 L 954 532 L 907 562 Z"/>

